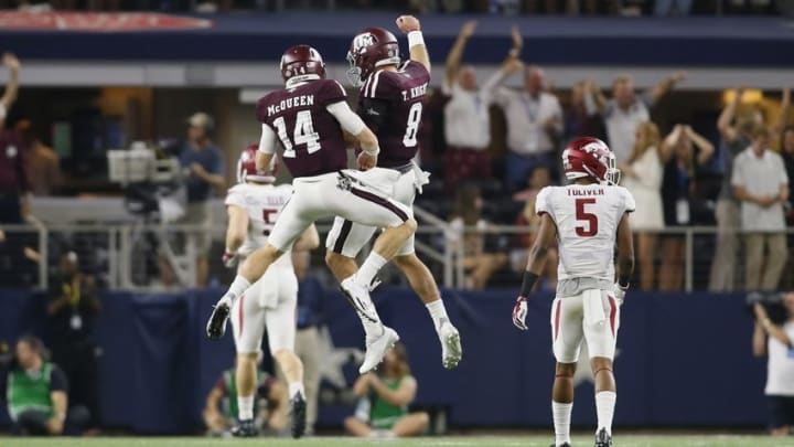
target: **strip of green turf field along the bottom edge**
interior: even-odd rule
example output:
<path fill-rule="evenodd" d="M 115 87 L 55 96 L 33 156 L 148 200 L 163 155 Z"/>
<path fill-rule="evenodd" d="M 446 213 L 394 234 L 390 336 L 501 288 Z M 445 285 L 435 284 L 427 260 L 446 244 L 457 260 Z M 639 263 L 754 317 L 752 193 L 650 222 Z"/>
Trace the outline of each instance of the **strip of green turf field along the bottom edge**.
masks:
<path fill-rule="evenodd" d="M 208 438 L 0 438 L 3 447 L 548 447 L 550 436 L 468 436 L 412 439 L 353 439 L 314 437 L 301 440 L 285 438 L 208 439 Z M 573 447 L 592 446 L 591 437 L 575 437 Z M 769 436 L 620 436 L 615 447 L 792 447 L 794 437 Z"/>

